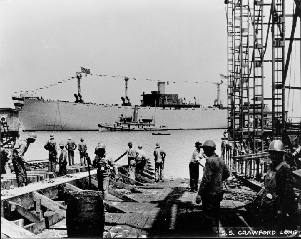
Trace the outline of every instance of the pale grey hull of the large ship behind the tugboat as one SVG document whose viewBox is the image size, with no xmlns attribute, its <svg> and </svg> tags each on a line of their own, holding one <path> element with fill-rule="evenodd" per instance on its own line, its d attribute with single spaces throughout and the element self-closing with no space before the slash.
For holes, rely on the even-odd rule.
<svg viewBox="0 0 301 239">
<path fill-rule="evenodd" d="M 16 105 L 16 104 L 15 104 Z M 20 106 L 20 105 L 19 105 Z M 20 109 L 20 107 L 17 107 Z M 139 107 L 138 119 L 153 117 L 156 127 L 168 129 L 225 129 L 227 110 L 215 107 Z M 23 131 L 98 131 L 112 125 L 121 114 L 132 115 L 134 106 L 97 105 L 23 99 L 19 119 Z"/>
</svg>

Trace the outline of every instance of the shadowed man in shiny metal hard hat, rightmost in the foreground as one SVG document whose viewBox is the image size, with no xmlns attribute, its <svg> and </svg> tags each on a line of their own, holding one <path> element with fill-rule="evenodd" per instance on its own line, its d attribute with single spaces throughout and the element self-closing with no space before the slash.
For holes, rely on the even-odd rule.
<svg viewBox="0 0 301 239">
<path fill-rule="evenodd" d="M 293 222 L 295 194 L 290 166 L 284 162 L 284 154 L 286 154 L 284 144 L 280 140 L 274 140 L 267 152 L 271 156 L 272 163 L 264 179 L 265 189 L 261 197 L 262 215 L 260 216 L 263 225 L 289 229 L 296 225 L 296 221 Z"/>
</svg>

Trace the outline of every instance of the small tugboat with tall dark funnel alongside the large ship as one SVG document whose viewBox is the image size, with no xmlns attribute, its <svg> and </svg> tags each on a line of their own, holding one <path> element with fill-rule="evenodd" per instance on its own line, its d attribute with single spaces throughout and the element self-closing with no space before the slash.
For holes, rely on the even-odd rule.
<svg viewBox="0 0 301 239">
<path fill-rule="evenodd" d="M 162 131 L 168 130 L 166 126 L 156 128 L 153 119 L 138 119 L 138 105 L 135 105 L 133 116 L 119 116 L 119 121 L 115 121 L 113 125 L 98 124 L 99 131 Z"/>
</svg>

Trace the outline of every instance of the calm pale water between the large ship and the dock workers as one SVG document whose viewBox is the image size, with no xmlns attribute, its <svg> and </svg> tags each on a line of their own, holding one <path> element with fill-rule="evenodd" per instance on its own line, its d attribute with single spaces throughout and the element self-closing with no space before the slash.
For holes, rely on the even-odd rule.
<svg viewBox="0 0 301 239">
<path fill-rule="evenodd" d="M 191 155 L 195 149 L 194 145 L 196 141 L 203 143 L 210 139 L 216 143 L 216 153 L 221 154 L 221 138 L 223 137 L 223 129 L 207 129 L 207 130 L 170 130 L 167 131 L 171 135 L 152 135 L 152 132 L 54 132 L 54 140 L 57 142 L 57 146 L 60 142 L 66 143 L 68 137 L 76 142 L 78 145 L 80 138 L 83 138 L 88 146 L 87 152 L 91 159 L 94 159 L 95 147 L 99 141 L 102 141 L 106 145 L 106 152 L 111 154 L 113 159 L 117 159 L 121 156 L 128 147 L 128 142 L 133 142 L 133 147 L 138 148 L 139 144 L 143 145 L 143 150 L 146 153 L 146 157 L 151 159 L 154 167 L 154 149 L 156 143 L 161 144 L 161 148 L 166 151 L 166 159 L 164 165 L 165 178 L 189 178 L 189 162 Z M 20 132 L 20 139 L 27 138 L 29 132 Z M 36 132 L 37 140 L 34 144 L 31 144 L 25 154 L 25 158 L 28 160 L 47 159 L 48 151 L 44 149 L 46 141 L 49 139 L 51 132 Z M 59 147 L 58 147 L 59 148 Z M 59 150 L 60 151 L 60 150 Z M 79 163 L 79 151 L 75 150 L 75 163 Z M 201 160 L 201 163 L 205 165 L 205 159 Z M 126 165 L 127 157 L 124 156 L 117 164 Z M 200 177 L 203 174 L 203 168 L 200 167 Z"/>
</svg>

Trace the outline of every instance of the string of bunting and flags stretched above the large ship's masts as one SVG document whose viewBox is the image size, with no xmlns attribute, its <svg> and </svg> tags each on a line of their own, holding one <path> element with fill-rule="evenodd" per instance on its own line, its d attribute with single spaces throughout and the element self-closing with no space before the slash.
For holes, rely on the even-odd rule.
<svg viewBox="0 0 301 239">
<path fill-rule="evenodd" d="M 112 76 L 112 75 L 107 75 L 107 74 L 91 74 L 90 73 L 90 69 L 86 69 L 86 68 L 82 68 L 81 67 L 81 73 L 85 74 L 85 76 L 87 77 L 87 75 L 96 75 L 98 77 L 113 77 L 113 78 L 116 78 L 116 77 L 119 77 L 119 78 L 128 78 L 129 80 L 151 80 L 151 81 L 160 81 L 160 80 L 153 80 L 153 79 L 142 79 L 142 78 L 130 78 L 130 77 L 127 77 L 127 76 L 121 76 L 121 75 L 117 75 L 117 76 Z M 81 77 L 81 73 L 80 74 L 80 77 Z M 225 75 L 222 75 L 222 74 L 219 74 L 220 77 L 221 77 L 221 80 L 225 80 L 227 79 L 227 76 Z M 68 80 L 72 80 L 72 79 L 75 79 L 77 78 L 77 76 L 74 76 L 74 77 L 69 77 L 69 79 L 66 79 L 66 80 L 61 80 L 61 81 L 58 81 L 57 83 L 52 83 L 48 86 L 44 86 L 44 87 L 39 87 L 39 88 L 34 88 L 34 89 L 31 89 L 31 90 L 24 90 L 24 91 L 19 91 L 19 92 L 14 92 L 15 94 L 17 93 L 23 93 L 23 92 L 26 92 L 26 93 L 29 93 L 29 92 L 35 92 L 35 90 L 39 91 L 39 90 L 43 90 L 43 89 L 48 89 L 49 86 L 57 86 L 58 84 L 62 84 L 63 82 L 68 82 Z M 183 80 L 183 81 L 174 81 L 174 80 L 170 80 L 170 81 L 167 81 L 167 85 L 169 85 L 169 82 L 172 82 L 172 83 L 212 83 L 211 81 L 189 81 L 189 80 Z M 223 82 L 222 82 L 223 83 Z"/>
</svg>

